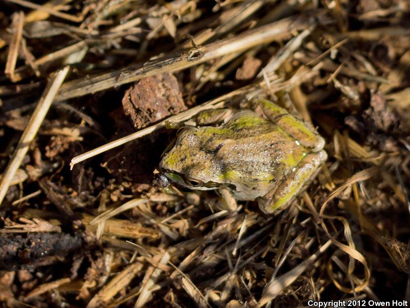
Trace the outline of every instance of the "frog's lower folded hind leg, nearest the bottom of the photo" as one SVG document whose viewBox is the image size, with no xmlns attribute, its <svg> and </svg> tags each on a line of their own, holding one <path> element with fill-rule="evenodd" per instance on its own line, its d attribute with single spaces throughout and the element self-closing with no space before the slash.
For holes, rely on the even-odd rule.
<svg viewBox="0 0 410 308">
<path fill-rule="evenodd" d="M 327 153 L 320 151 L 306 155 L 292 174 L 279 182 L 265 197 L 258 200 L 262 212 L 272 213 L 294 200 L 315 178 Z"/>
</svg>

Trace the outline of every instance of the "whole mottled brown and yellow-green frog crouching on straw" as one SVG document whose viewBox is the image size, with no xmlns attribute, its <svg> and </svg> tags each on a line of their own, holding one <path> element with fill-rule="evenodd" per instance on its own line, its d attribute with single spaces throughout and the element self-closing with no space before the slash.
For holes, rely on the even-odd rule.
<svg viewBox="0 0 410 308">
<path fill-rule="evenodd" d="M 225 114 L 216 123 L 179 129 L 159 162 L 163 184 L 216 190 L 235 202 L 256 200 L 263 213 L 289 206 L 326 161 L 324 138 L 264 98 Z"/>
</svg>

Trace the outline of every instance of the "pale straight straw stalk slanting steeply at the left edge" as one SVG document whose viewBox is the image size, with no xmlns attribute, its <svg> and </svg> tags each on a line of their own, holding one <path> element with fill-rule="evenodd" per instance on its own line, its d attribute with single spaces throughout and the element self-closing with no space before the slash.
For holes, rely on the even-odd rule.
<svg viewBox="0 0 410 308">
<path fill-rule="evenodd" d="M 30 118 L 29 124 L 27 125 L 27 128 L 25 129 L 22 137 L 20 138 L 20 141 L 18 142 L 16 150 L 13 153 L 13 157 L 11 158 L 6 171 L 3 173 L 3 177 L 0 182 L 0 206 L 3 202 L 4 197 L 6 196 L 7 190 L 9 189 L 11 179 L 13 178 L 17 169 L 20 167 L 24 156 L 26 156 L 30 142 L 36 136 L 40 125 L 42 125 L 47 111 L 49 110 L 58 89 L 60 88 L 61 84 L 63 84 L 68 71 L 68 66 L 57 71 L 47 84 L 47 87 L 44 90 L 44 94 L 40 98 L 38 105 Z"/>
</svg>

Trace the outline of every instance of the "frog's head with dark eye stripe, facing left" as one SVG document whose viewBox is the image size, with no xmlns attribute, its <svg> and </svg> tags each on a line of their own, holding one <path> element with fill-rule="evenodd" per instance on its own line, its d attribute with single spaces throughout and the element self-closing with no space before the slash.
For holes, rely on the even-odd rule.
<svg viewBox="0 0 410 308">
<path fill-rule="evenodd" d="M 201 148 L 198 129 L 180 129 L 176 140 L 162 154 L 159 163 L 160 177 L 169 182 L 194 190 L 214 190 L 220 187 L 212 172 L 210 153 Z M 166 180 L 162 178 L 162 183 Z"/>
</svg>

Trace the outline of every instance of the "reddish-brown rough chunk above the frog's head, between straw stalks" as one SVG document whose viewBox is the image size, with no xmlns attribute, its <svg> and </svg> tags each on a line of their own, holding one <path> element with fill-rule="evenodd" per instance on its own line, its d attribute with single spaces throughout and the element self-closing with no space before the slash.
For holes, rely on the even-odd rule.
<svg viewBox="0 0 410 308">
<path fill-rule="evenodd" d="M 122 107 L 137 129 L 187 109 L 178 80 L 168 73 L 140 79 L 125 92 Z"/>
</svg>

